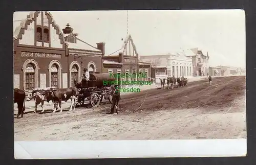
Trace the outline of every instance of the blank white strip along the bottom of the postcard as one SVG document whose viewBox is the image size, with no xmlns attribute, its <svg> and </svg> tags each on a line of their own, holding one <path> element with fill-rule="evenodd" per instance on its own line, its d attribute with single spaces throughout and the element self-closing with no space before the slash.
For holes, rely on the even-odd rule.
<svg viewBox="0 0 256 165">
<path fill-rule="evenodd" d="M 246 156 L 246 139 L 16 141 L 16 159 Z"/>
</svg>

